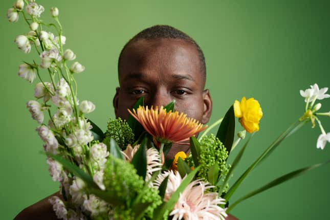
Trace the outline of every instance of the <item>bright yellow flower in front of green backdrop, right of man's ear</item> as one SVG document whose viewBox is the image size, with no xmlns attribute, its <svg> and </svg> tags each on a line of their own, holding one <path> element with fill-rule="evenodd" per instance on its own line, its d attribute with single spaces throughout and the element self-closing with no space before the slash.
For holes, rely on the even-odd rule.
<svg viewBox="0 0 330 220">
<path fill-rule="evenodd" d="M 239 102 L 235 100 L 234 113 L 239 118 L 240 124 L 249 132 L 259 130 L 259 121 L 262 117 L 262 110 L 260 104 L 254 98 L 248 100 L 243 97 Z"/>
</svg>

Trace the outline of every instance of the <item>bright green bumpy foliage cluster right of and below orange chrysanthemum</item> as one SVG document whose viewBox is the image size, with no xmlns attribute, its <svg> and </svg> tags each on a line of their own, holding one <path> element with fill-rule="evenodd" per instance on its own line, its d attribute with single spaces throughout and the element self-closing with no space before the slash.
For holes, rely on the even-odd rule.
<svg viewBox="0 0 330 220">
<path fill-rule="evenodd" d="M 189 165 L 192 163 L 191 157 L 186 160 Z M 228 173 L 228 168 L 226 160 L 228 158 L 228 152 L 226 147 L 221 143 L 221 141 L 216 138 L 213 134 L 209 136 L 204 136 L 201 140 L 201 152 L 199 156 L 200 171 L 198 173 L 198 178 L 205 181 L 209 179 L 209 170 L 215 164 L 218 166 L 219 173 L 222 177 L 225 177 Z M 213 188 L 212 190 L 217 190 L 219 186 Z"/>
</svg>

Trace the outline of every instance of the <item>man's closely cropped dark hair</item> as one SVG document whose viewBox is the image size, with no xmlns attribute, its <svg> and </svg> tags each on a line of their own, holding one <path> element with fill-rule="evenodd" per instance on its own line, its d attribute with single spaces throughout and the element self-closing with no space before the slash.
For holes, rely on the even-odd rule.
<svg viewBox="0 0 330 220">
<path fill-rule="evenodd" d="M 126 45 L 123 47 L 123 49 L 120 52 L 119 59 L 118 59 L 118 74 L 119 74 L 119 67 L 120 67 L 120 62 L 122 58 L 123 51 L 126 49 L 126 47 L 135 41 L 138 41 L 140 39 L 160 39 L 160 38 L 168 38 L 168 39 L 182 39 L 186 42 L 192 43 L 197 52 L 199 53 L 199 58 L 200 58 L 200 65 L 201 65 L 201 73 L 203 74 L 203 77 L 205 79 L 206 77 L 206 65 L 205 65 L 205 57 L 202 49 L 200 46 L 196 43 L 194 39 L 189 37 L 186 33 L 173 28 L 169 25 L 155 25 L 150 28 L 144 29 L 137 35 L 135 35 L 133 38 L 131 38 Z"/>
</svg>

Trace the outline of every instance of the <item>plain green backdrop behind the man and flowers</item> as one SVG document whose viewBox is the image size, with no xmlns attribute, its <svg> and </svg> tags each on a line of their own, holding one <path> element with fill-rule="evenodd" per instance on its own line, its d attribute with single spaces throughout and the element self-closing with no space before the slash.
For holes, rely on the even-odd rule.
<svg viewBox="0 0 330 220">
<path fill-rule="evenodd" d="M 57 6 L 65 48 L 77 54 L 86 70 L 76 75 L 79 99 L 97 108 L 90 118 L 104 130 L 114 118 L 112 98 L 117 79 L 117 58 L 125 42 L 144 28 L 167 24 L 193 37 L 205 53 L 207 87 L 213 97 L 211 122 L 243 96 L 254 97 L 264 116 L 235 180 L 284 129 L 303 114 L 300 89 L 310 84 L 330 86 L 330 4 L 328 1 L 38 1 L 46 9 Z M 0 209 L 2 219 L 58 190 L 48 173 L 42 142 L 26 102 L 34 85 L 17 76 L 23 60 L 35 55 L 17 50 L 14 38 L 29 29 L 23 17 L 10 24 L 6 18 L 12 1 L 0 3 L 1 139 Z M 46 74 L 43 72 L 42 74 Z M 46 76 L 46 75 L 45 75 Z M 322 100 L 323 112 L 330 100 Z M 323 117 L 326 131 L 330 118 Z M 238 124 L 237 129 L 241 129 Z M 214 130 L 215 132 L 215 130 Z M 320 129 L 305 125 L 285 140 L 258 166 L 232 202 L 272 179 L 297 168 L 330 158 L 330 144 L 316 148 Z M 234 152 L 237 153 L 239 147 Z M 232 160 L 232 159 L 231 159 Z M 232 210 L 240 219 L 330 219 L 329 165 L 252 197 Z M 233 182 L 231 182 L 233 183 Z"/>
</svg>

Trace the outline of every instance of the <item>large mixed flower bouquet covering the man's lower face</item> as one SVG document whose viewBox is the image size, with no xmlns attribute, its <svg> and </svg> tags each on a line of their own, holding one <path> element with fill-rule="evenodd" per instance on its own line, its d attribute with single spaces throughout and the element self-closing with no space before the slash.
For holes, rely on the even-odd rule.
<svg viewBox="0 0 330 220">
<path fill-rule="evenodd" d="M 321 129 L 317 148 L 323 149 L 330 142 L 330 133 L 325 132 L 319 119 L 330 116 L 330 112 L 319 113 L 321 104 L 315 103 L 330 97 L 327 88 L 319 89 L 314 84 L 301 90 L 306 102 L 304 114 L 229 186 L 253 133 L 259 130 L 263 113 L 257 100 L 245 97 L 236 100 L 224 118 L 207 127 L 174 111 L 175 100 L 166 106 L 153 107 L 144 106 L 140 98 L 133 109 L 128 109 L 127 121 L 109 119 L 103 132 L 86 118 L 95 105 L 77 97 L 74 76 L 85 68 L 77 61 L 69 65 L 76 55 L 64 49 L 66 38 L 62 35 L 59 11 L 51 8 L 55 23 L 46 24 L 40 19 L 44 10 L 34 0 L 17 0 L 7 17 L 14 23 L 23 16 L 31 31 L 17 36 L 14 42 L 24 53 L 30 53 L 33 47 L 40 58 L 20 64 L 18 76 L 30 83 L 39 80 L 35 84 L 36 100 L 29 101 L 27 107 L 39 123 L 36 131 L 45 142 L 43 149 L 50 175 L 60 185 L 62 198 L 50 199 L 58 218 L 225 219 L 241 201 L 322 165 L 285 174 L 229 203 L 249 173 L 307 122 Z M 55 34 L 45 28 L 52 28 Z M 40 71 L 48 72 L 47 81 Z M 47 123 L 45 114 L 49 118 Z M 244 128 L 236 140 L 235 117 Z M 209 134 L 215 126 L 219 126 L 217 133 Z M 230 153 L 247 133 L 251 135 L 233 163 L 228 164 Z M 178 152 L 174 159 L 165 160 L 172 143 L 187 141 L 191 150 L 188 155 Z"/>
</svg>

